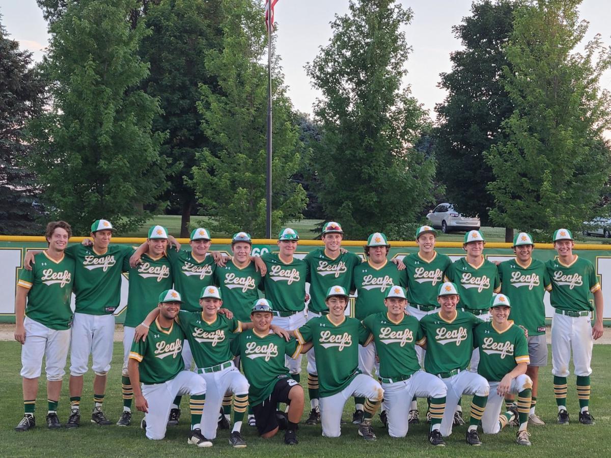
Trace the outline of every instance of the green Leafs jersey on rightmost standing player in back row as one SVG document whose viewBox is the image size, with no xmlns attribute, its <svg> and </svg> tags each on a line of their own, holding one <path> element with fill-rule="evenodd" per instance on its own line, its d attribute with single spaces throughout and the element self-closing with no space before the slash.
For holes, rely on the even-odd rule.
<svg viewBox="0 0 611 458">
<path fill-rule="evenodd" d="M 555 259 L 547 261 L 546 267 L 552 282 L 552 307 L 572 311 L 594 310 L 590 303 L 590 293 L 601 289 L 594 264 L 576 256 L 569 266 Z"/>
</svg>

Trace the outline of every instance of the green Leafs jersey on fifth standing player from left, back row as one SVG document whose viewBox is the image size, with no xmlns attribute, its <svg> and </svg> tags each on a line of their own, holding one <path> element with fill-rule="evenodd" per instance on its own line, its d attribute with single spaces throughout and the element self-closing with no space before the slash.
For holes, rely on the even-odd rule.
<svg viewBox="0 0 611 458">
<path fill-rule="evenodd" d="M 255 264 L 238 267 L 229 261 L 225 267 L 214 271 L 214 282 L 219 285 L 223 307 L 227 307 L 240 321 L 251 321 L 251 308 L 259 298 L 258 289 L 262 288 L 260 272 Z"/>
</svg>

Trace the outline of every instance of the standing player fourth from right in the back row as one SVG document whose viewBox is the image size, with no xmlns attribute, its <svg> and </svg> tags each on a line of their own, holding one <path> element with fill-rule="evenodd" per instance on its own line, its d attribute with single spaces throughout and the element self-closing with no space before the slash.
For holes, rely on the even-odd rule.
<svg viewBox="0 0 611 458">
<path fill-rule="evenodd" d="M 408 313 L 420 321 L 423 316 L 437 313 L 437 291 L 444 282 L 444 275 L 452 265 L 452 260 L 446 255 L 437 253 L 435 241 L 437 231 L 430 226 L 420 226 L 416 229 L 416 243 L 418 252 L 411 253 L 403 258 L 408 278 Z M 416 346 L 416 354 L 420 366 L 424 365 L 425 351 Z M 427 418 L 430 412 L 427 412 Z M 463 418 L 457 414 L 459 423 Z M 420 423 L 416 399 L 412 399 L 409 407 L 409 423 Z M 463 422 L 464 423 L 464 422 Z"/>
</svg>

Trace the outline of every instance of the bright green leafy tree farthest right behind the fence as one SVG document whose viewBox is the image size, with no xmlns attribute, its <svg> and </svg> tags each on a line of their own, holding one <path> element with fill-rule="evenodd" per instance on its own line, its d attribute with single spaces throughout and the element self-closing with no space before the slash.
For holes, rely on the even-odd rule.
<svg viewBox="0 0 611 458">
<path fill-rule="evenodd" d="M 611 157 L 602 132 L 611 111 L 599 81 L 611 52 L 599 35 L 584 54 L 575 51 L 587 31 L 579 3 L 540 0 L 516 12 L 503 76 L 515 109 L 503 123 L 506 140 L 486 154 L 496 224 L 546 235 L 579 230 L 606 190 Z"/>
</svg>

